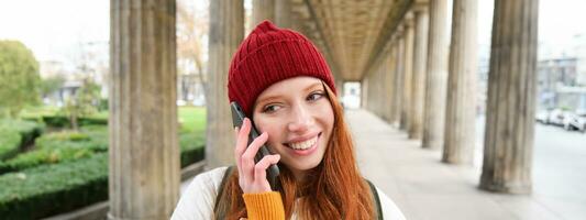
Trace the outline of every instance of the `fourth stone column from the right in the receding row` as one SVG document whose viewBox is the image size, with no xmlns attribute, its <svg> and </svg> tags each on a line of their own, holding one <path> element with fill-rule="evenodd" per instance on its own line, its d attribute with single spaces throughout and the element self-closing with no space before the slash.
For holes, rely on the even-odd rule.
<svg viewBox="0 0 586 220">
<path fill-rule="evenodd" d="M 428 61 L 428 3 L 414 7 L 414 52 L 413 78 L 411 99 L 411 123 L 409 123 L 409 139 L 421 139 L 423 132 L 423 106 L 425 100 L 425 75 Z"/>
</svg>

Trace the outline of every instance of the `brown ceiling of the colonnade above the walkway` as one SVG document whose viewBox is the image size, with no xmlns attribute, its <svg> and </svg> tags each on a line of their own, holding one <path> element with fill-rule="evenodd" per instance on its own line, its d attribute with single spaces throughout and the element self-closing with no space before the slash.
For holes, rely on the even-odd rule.
<svg viewBox="0 0 586 220">
<path fill-rule="evenodd" d="M 363 78 L 413 0 L 291 0 L 292 11 L 343 80 Z M 324 48 L 325 47 L 325 48 Z M 333 64 L 332 64 L 333 63 Z"/>
</svg>

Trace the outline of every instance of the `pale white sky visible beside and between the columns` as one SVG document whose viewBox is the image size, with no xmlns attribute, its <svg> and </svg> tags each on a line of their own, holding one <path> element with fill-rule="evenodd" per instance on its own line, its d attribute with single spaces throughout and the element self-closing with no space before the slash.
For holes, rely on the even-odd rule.
<svg viewBox="0 0 586 220">
<path fill-rule="evenodd" d="M 493 0 L 478 1 L 478 43 L 487 48 Z M 23 42 L 38 61 L 71 61 L 79 44 L 108 43 L 109 3 L 109 0 L 0 0 L 0 40 Z M 540 0 L 540 54 L 560 54 L 570 50 L 576 34 L 586 35 L 585 11 L 586 0 Z"/>
</svg>

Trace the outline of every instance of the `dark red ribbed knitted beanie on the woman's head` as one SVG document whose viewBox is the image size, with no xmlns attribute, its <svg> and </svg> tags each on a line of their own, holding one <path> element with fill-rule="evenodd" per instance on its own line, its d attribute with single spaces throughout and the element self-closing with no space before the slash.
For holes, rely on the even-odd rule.
<svg viewBox="0 0 586 220">
<path fill-rule="evenodd" d="M 263 21 L 244 38 L 232 58 L 228 98 L 251 117 L 253 105 L 263 90 L 296 76 L 320 78 L 336 92 L 330 67 L 307 37 Z"/>
</svg>

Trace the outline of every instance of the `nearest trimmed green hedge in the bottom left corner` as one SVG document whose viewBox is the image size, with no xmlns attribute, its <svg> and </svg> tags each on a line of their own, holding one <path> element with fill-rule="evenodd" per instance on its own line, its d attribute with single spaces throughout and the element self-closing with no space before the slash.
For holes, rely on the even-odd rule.
<svg viewBox="0 0 586 220">
<path fill-rule="evenodd" d="M 0 176 L 0 216 L 38 219 L 108 199 L 108 154 Z"/>
</svg>

